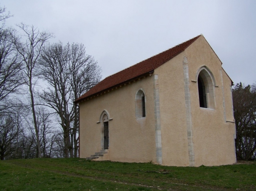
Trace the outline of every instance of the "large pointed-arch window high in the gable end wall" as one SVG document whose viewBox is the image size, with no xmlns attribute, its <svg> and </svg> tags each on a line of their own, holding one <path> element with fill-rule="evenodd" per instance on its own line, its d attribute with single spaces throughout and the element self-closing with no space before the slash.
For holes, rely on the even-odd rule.
<svg viewBox="0 0 256 191">
<path fill-rule="evenodd" d="M 200 68 L 198 72 L 197 85 L 200 108 L 215 109 L 214 76 L 206 66 Z"/>
</svg>

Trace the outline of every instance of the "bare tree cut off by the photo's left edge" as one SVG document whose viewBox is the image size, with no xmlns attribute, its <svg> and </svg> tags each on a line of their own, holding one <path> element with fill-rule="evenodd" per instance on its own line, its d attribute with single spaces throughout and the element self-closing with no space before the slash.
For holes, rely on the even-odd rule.
<svg viewBox="0 0 256 191">
<path fill-rule="evenodd" d="M 16 105 L 10 97 L 20 93 L 23 85 L 22 63 L 15 44 L 15 30 L 5 27 L 5 7 L 0 7 L 0 155 L 1 160 L 15 156 L 15 142 L 21 132 L 20 123 L 16 123 Z M 20 117 L 18 117 L 20 118 Z"/>
</svg>

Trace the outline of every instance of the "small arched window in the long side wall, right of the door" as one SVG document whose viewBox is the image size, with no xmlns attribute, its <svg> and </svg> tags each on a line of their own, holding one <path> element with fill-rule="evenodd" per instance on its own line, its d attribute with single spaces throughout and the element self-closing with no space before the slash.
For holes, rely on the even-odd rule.
<svg viewBox="0 0 256 191">
<path fill-rule="evenodd" d="M 142 89 L 135 95 L 135 116 L 136 119 L 146 117 L 146 97 Z"/>
</svg>

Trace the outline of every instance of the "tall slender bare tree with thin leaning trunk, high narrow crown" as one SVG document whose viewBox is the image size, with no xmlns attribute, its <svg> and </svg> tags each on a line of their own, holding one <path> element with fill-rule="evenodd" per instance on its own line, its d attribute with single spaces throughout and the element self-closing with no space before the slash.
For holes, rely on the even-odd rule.
<svg viewBox="0 0 256 191">
<path fill-rule="evenodd" d="M 37 119 L 35 113 L 35 103 L 34 103 L 34 87 L 37 81 L 37 76 L 34 75 L 34 69 L 36 67 L 38 58 L 40 56 L 43 44 L 45 44 L 49 38 L 52 38 L 52 33 L 48 31 L 40 32 L 39 29 L 36 27 L 28 26 L 23 23 L 18 25 L 20 30 L 24 33 L 22 36 L 26 39 L 25 42 L 21 42 L 21 37 L 16 38 L 13 37 L 13 42 L 15 44 L 15 48 L 18 51 L 19 55 L 22 58 L 22 61 L 25 65 L 25 69 L 23 72 L 25 73 L 25 82 L 29 88 L 29 94 L 31 98 L 31 109 L 33 113 L 33 122 L 34 122 L 34 129 L 36 132 L 36 142 L 38 145 L 37 148 L 37 157 L 41 157 L 41 150 L 40 150 L 40 139 L 37 127 Z"/>
</svg>

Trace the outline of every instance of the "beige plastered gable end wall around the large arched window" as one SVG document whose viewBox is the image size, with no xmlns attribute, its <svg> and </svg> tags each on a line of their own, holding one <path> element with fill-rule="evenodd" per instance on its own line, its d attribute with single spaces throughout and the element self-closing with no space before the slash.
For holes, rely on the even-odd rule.
<svg viewBox="0 0 256 191">
<path fill-rule="evenodd" d="M 187 58 L 189 73 L 193 166 L 233 164 L 236 157 L 231 80 L 223 71 L 221 61 L 201 36 L 184 52 L 154 72 L 159 75 L 163 165 L 189 166 L 183 80 L 184 57 Z M 200 108 L 199 105 L 196 74 L 204 65 L 215 78 L 215 109 Z"/>
</svg>

